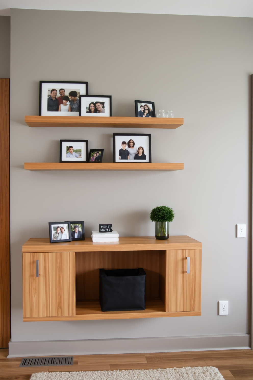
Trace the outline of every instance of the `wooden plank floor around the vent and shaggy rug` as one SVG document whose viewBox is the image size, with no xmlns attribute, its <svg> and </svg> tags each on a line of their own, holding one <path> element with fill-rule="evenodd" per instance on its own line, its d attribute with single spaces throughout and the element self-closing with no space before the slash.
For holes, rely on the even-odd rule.
<svg viewBox="0 0 253 380">
<path fill-rule="evenodd" d="M 148 354 L 75 355 L 73 366 L 19 368 L 21 358 L 7 359 L 0 349 L 0 379 L 28 380 L 33 372 L 156 369 L 214 366 L 225 380 L 253 380 L 253 350 L 189 351 Z"/>
</svg>

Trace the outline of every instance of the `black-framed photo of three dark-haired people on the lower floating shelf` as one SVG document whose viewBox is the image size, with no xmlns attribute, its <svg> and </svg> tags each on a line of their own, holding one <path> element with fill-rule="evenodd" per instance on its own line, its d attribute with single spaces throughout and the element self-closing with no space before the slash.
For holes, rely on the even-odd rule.
<svg viewBox="0 0 253 380">
<path fill-rule="evenodd" d="M 151 134 L 113 133 L 113 162 L 151 162 Z"/>
</svg>

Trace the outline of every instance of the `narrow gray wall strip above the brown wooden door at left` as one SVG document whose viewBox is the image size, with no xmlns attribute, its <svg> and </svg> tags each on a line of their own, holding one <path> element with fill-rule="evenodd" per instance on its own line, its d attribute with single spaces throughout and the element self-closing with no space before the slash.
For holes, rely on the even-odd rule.
<svg viewBox="0 0 253 380">
<path fill-rule="evenodd" d="M 0 78 L 10 76 L 11 17 L 0 16 Z"/>
</svg>

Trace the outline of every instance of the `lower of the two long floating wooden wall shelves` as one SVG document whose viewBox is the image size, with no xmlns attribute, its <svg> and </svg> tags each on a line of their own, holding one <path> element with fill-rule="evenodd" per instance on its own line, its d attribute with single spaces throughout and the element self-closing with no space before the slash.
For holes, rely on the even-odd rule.
<svg viewBox="0 0 253 380">
<path fill-rule="evenodd" d="M 156 163 L 156 162 L 25 162 L 26 170 L 165 170 L 174 171 L 184 169 L 183 163 Z"/>
</svg>

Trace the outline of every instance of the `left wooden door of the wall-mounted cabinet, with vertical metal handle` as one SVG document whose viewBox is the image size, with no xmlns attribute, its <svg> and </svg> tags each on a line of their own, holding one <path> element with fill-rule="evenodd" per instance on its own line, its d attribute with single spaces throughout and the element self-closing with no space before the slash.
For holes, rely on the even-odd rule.
<svg viewBox="0 0 253 380">
<path fill-rule="evenodd" d="M 75 315 L 75 252 L 23 253 L 23 315 Z"/>
</svg>

